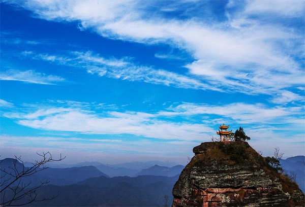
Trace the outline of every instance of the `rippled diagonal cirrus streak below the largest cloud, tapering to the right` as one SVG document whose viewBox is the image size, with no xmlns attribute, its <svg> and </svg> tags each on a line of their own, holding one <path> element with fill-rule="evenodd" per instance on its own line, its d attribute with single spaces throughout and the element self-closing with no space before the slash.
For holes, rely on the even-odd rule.
<svg viewBox="0 0 305 207">
<path fill-rule="evenodd" d="M 217 87 L 209 86 L 187 75 L 156 69 L 153 66 L 136 64 L 130 57 L 121 59 L 114 57 L 105 58 L 92 51 L 70 51 L 64 55 L 37 54 L 34 51 L 23 51 L 21 54 L 59 65 L 84 68 L 90 74 L 97 74 L 98 76 L 106 76 L 108 78 L 161 84 L 177 88 L 220 90 Z"/>
</svg>

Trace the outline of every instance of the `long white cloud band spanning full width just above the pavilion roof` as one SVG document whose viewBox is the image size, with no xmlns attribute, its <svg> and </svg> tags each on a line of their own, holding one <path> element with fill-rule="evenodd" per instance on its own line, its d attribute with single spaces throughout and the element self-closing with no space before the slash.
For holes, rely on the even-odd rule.
<svg viewBox="0 0 305 207">
<path fill-rule="evenodd" d="M 164 140 L 198 141 L 215 133 L 219 123 L 243 125 L 260 123 L 271 130 L 273 124 L 285 124 L 290 130 L 302 125 L 303 107 L 273 107 L 262 104 L 231 103 L 225 106 L 207 106 L 182 103 L 156 113 L 119 111 L 103 108 L 103 105 L 59 101 L 55 106 L 27 106 L 23 112 L 7 112 L 5 117 L 31 128 L 80 132 L 84 134 L 133 134 Z M 170 119 L 182 116 L 182 119 Z M 204 117 L 201 123 L 193 123 L 194 116 Z M 299 118 L 297 118 L 299 117 Z M 181 120 L 181 121 L 178 121 Z M 208 120 L 208 121 L 205 121 Z M 289 130 L 289 129 L 285 129 Z"/>
</svg>

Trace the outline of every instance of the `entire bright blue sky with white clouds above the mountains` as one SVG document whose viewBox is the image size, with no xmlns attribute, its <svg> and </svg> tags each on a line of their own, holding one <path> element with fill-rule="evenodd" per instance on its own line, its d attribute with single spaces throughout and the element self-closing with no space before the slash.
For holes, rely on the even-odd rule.
<svg viewBox="0 0 305 207">
<path fill-rule="evenodd" d="M 1 155 L 168 160 L 222 123 L 305 155 L 304 1 L 2 1 Z"/>
</svg>

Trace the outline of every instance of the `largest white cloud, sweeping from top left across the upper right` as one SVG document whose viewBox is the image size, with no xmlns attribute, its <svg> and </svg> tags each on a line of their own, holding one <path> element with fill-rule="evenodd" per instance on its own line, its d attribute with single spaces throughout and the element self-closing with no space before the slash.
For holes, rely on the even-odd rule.
<svg viewBox="0 0 305 207">
<path fill-rule="evenodd" d="M 176 10 L 179 5 L 185 8 L 184 4 L 183 1 L 176 2 L 169 8 L 162 7 L 162 11 Z M 198 3 L 190 4 L 189 8 L 196 7 Z M 25 1 L 22 5 L 43 19 L 80 21 L 82 29 L 92 29 L 111 39 L 144 44 L 170 44 L 172 47 L 186 50 L 196 59 L 186 67 L 190 73 L 197 76 L 197 80 L 181 80 L 185 77 L 164 70 L 155 71 L 149 66 L 129 65 L 128 70 L 121 73 L 117 70 L 109 72 L 101 67 L 89 70 L 100 75 L 108 73 L 112 78 L 136 78 L 159 84 L 155 77 L 135 77 L 137 73 L 151 71 L 151 74 L 157 72 L 156 78 L 160 79 L 161 76 L 166 85 L 170 85 L 172 80 L 178 80 L 174 85 L 183 81 L 190 84 L 182 87 L 211 90 L 226 88 L 245 93 L 274 94 L 285 87 L 303 85 L 303 81 L 298 77 L 304 77 L 305 74 L 291 55 L 295 54 L 295 51 L 302 51 L 303 34 L 286 25 L 260 22 L 259 17 L 250 18 L 251 14 L 262 16 L 268 15 L 269 12 L 282 15 L 283 18 L 301 18 L 303 1 L 249 1 L 243 9 L 239 8 L 234 12 L 228 10 L 229 21 L 222 23 L 205 23 L 191 18 L 190 15 L 184 20 L 166 19 L 159 16 L 159 13 L 150 15 L 151 4 L 131 0 L 71 1 L 69 4 L 63 1 Z M 231 2 L 228 8 L 232 5 L 234 2 Z M 109 65 L 101 57 L 99 61 Z M 171 77 L 170 80 L 166 80 L 165 76 Z M 281 81 L 278 81 L 278 78 Z M 199 87 L 194 86 L 198 85 L 198 82 Z"/>
</svg>

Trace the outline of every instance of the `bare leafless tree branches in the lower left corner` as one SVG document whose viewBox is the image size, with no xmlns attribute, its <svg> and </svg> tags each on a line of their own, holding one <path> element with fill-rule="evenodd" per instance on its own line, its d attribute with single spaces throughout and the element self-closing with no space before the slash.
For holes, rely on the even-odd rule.
<svg viewBox="0 0 305 207">
<path fill-rule="evenodd" d="M 52 197 L 43 197 L 38 198 L 37 190 L 49 183 L 49 181 L 40 182 L 38 186 L 31 186 L 31 181 L 23 182 L 23 178 L 32 176 L 39 171 L 42 171 L 46 168 L 47 163 L 60 161 L 65 159 L 66 157 L 60 157 L 58 159 L 53 159 L 50 152 L 39 154 L 40 159 L 36 160 L 32 163 L 31 167 L 25 167 L 23 161 L 21 160 L 21 156 L 15 156 L 15 160 L 13 162 L 13 166 L 8 166 L 7 168 L 0 168 L 0 206 L 20 206 L 26 205 L 28 203 L 37 202 L 37 201 L 45 201 L 54 199 L 56 196 Z M 3 160 L 0 162 L 2 164 Z"/>
</svg>

